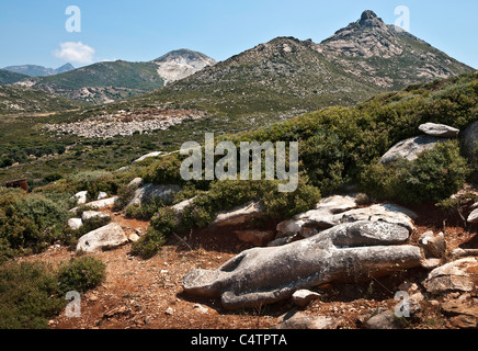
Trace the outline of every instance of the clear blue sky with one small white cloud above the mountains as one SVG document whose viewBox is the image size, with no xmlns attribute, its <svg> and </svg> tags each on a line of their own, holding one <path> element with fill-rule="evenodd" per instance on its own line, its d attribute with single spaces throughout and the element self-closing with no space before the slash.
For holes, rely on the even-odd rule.
<svg viewBox="0 0 478 351">
<path fill-rule="evenodd" d="M 66 29 L 69 5 L 81 10 L 79 33 Z M 364 10 L 394 24 L 398 5 L 413 35 L 478 68 L 476 0 L 3 0 L 0 67 L 147 61 L 177 48 L 224 60 L 276 36 L 319 43 Z"/>
</svg>

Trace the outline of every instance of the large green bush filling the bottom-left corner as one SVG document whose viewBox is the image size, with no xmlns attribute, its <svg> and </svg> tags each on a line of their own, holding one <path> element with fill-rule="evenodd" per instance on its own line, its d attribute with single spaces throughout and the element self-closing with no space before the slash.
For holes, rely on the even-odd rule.
<svg viewBox="0 0 478 351">
<path fill-rule="evenodd" d="M 49 265 L 12 262 L 0 267 L 0 329 L 48 328 L 48 320 L 66 304 Z"/>
</svg>

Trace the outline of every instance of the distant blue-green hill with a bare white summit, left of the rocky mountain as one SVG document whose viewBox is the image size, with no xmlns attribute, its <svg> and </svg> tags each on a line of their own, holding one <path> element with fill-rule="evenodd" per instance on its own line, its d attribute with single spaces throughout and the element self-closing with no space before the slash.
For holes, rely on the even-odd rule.
<svg viewBox="0 0 478 351">
<path fill-rule="evenodd" d="M 11 82 L 90 104 L 101 104 L 162 88 L 215 64 L 204 54 L 179 49 L 146 63 L 102 61 L 53 76 L 21 77 L 16 82 Z"/>
</svg>

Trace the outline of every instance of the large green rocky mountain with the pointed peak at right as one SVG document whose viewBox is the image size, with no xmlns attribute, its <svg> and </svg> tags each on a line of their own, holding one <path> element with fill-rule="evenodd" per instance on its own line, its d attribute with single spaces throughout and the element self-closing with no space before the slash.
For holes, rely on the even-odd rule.
<svg viewBox="0 0 478 351">
<path fill-rule="evenodd" d="M 320 44 L 277 37 L 118 103 L 118 109 L 169 104 L 223 120 L 240 117 L 238 127 L 247 128 L 470 71 L 471 67 L 365 11 Z"/>
</svg>

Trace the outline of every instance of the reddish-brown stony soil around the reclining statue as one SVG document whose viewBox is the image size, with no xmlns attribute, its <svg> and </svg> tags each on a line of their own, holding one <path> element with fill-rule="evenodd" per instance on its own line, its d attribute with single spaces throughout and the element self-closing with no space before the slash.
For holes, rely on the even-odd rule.
<svg viewBox="0 0 478 351">
<path fill-rule="evenodd" d="M 445 234 L 448 251 L 458 247 L 478 248 L 477 226 L 465 227 L 459 216 L 447 216 L 433 205 L 421 205 L 411 210 L 419 214 L 412 241 L 417 242 L 423 233 L 433 230 Z M 120 214 L 112 215 L 113 220 L 120 223 L 127 235 L 136 229 L 146 233 L 147 222 L 126 219 Z M 69 318 L 62 313 L 50 321 L 50 326 L 57 329 L 270 328 L 281 321 L 282 315 L 296 308 L 291 301 L 262 309 L 230 312 L 225 310 L 218 299 L 195 298 L 182 291 L 182 278 L 191 270 L 217 269 L 249 247 L 227 228 L 207 228 L 182 238 L 171 238 L 149 260 L 130 256 L 129 244 L 115 250 L 95 253 L 94 257 L 107 264 L 106 281 L 82 296 L 80 318 Z M 55 265 L 73 256 L 75 252 L 67 248 L 52 247 L 46 252 L 22 260 L 48 261 Z M 322 298 L 311 303 L 303 312 L 315 316 L 342 318 L 341 328 L 360 328 L 358 320 L 364 316 L 376 313 L 379 307 L 394 308 L 397 304 L 394 296 L 399 291 L 400 283 L 408 280 L 420 285 L 426 274 L 428 271 L 417 269 L 382 279 L 372 278 L 369 282 L 322 286 L 318 288 L 323 294 Z M 440 313 L 436 302 L 423 302 L 422 310 L 422 318 L 412 328 L 453 328 Z"/>
</svg>

